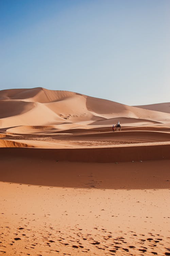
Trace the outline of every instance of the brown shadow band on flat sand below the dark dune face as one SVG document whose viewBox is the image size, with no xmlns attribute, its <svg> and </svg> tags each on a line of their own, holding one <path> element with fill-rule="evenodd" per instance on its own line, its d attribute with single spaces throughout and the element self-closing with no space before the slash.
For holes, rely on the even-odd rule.
<svg viewBox="0 0 170 256">
<path fill-rule="evenodd" d="M 168 189 L 169 165 L 170 160 L 87 163 L 6 156 L 0 158 L 0 181 L 53 187 Z"/>
</svg>

